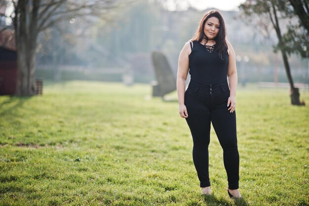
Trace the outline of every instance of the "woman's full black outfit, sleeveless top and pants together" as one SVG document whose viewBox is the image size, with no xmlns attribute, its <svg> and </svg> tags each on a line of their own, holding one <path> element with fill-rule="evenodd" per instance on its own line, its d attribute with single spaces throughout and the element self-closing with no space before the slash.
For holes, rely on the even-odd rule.
<svg viewBox="0 0 309 206">
<path fill-rule="evenodd" d="M 200 187 L 210 186 L 208 145 L 212 123 L 223 149 L 224 166 L 230 189 L 238 189 L 239 155 L 236 136 L 236 114 L 227 107 L 230 89 L 227 82 L 229 54 L 221 59 L 216 44 L 206 47 L 190 42 L 189 73 L 191 81 L 185 92 L 188 111 L 186 121 L 193 137 L 193 162 Z"/>
</svg>

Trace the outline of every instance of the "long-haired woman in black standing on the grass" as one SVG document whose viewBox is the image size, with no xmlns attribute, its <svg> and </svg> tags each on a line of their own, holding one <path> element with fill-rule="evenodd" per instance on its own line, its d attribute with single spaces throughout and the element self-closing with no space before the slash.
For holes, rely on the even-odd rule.
<svg viewBox="0 0 309 206">
<path fill-rule="evenodd" d="M 191 80 L 185 91 L 188 72 Z M 193 39 L 180 52 L 177 74 L 179 114 L 186 118 L 191 130 L 193 163 L 204 195 L 211 193 L 208 145 L 212 123 L 223 148 L 228 194 L 231 198 L 241 197 L 238 191 L 236 86 L 235 52 L 226 40 L 224 20 L 218 11 L 209 11 L 201 19 Z"/>
</svg>

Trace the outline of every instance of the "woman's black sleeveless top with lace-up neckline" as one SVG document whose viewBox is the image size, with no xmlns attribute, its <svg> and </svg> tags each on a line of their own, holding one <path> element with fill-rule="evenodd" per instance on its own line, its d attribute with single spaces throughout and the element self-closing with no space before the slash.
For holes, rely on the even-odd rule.
<svg viewBox="0 0 309 206">
<path fill-rule="evenodd" d="M 192 41 L 193 47 L 189 55 L 189 74 L 191 81 L 200 84 L 227 82 L 229 54 L 226 51 L 222 59 L 217 53 L 217 44 L 207 49 L 198 41 Z"/>
</svg>

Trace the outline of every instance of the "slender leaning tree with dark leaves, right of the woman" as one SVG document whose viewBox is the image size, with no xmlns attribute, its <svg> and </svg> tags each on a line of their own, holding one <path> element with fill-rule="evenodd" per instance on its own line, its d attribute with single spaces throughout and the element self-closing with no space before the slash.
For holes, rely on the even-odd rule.
<svg viewBox="0 0 309 206">
<path fill-rule="evenodd" d="M 294 2 L 291 4 L 290 1 L 286 0 L 247 0 L 239 7 L 244 12 L 245 17 L 259 17 L 257 25 L 261 29 L 268 30 L 269 25 L 274 28 L 278 38 L 274 51 L 280 50 L 282 54 L 291 87 L 291 103 L 293 105 L 304 105 L 305 103 L 301 103 L 299 99 L 299 89 L 294 86 L 287 54 L 300 53 L 303 57 L 309 57 L 309 49 L 307 48 L 309 33 L 305 30 L 308 27 L 308 20 L 299 19 L 303 16 L 307 16 L 308 19 L 308 3 L 306 0 L 291 1 Z M 302 8 L 300 9 L 300 7 Z M 293 23 L 295 19 L 299 19 L 299 24 Z M 287 26 L 284 27 L 280 24 L 280 20 L 287 20 Z M 302 22 L 304 22 L 304 25 Z M 281 32 L 282 28 L 286 30 L 285 33 Z"/>
</svg>

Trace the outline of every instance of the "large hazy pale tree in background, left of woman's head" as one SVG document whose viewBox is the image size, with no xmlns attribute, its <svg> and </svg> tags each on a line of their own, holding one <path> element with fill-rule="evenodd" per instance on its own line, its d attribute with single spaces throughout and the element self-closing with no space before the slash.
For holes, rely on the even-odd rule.
<svg viewBox="0 0 309 206">
<path fill-rule="evenodd" d="M 112 68 L 128 64 L 134 76 L 140 76 L 135 80 L 150 82 L 154 78 L 150 54 L 157 50 L 167 55 L 176 72 L 179 51 L 191 38 L 202 12 L 169 11 L 158 0 L 140 0 L 123 10 L 115 24 L 98 25 L 95 47 L 103 52 L 97 52 L 100 58 L 92 62 L 102 69 L 102 65 Z M 93 52 L 86 55 L 95 56 Z"/>
</svg>

